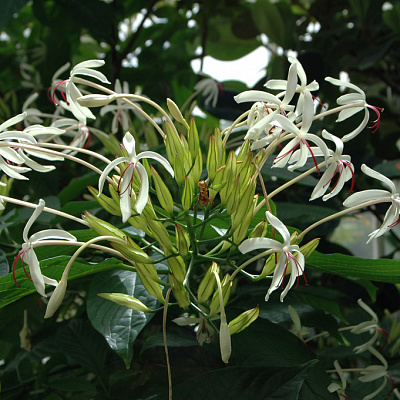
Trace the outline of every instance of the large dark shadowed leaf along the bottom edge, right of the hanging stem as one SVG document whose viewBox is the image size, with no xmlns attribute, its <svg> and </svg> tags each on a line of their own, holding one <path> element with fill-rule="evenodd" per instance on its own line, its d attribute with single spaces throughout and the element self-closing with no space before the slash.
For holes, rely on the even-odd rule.
<svg viewBox="0 0 400 400">
<path fill-rule="evenodd" d="M 307 374 L 317 362 L 277 369 L 228 367 L 209 371 L 175 384 L 174 399 L 206 399 L 212 393 L 214 399 L 297 400 Z"/>
</svg>

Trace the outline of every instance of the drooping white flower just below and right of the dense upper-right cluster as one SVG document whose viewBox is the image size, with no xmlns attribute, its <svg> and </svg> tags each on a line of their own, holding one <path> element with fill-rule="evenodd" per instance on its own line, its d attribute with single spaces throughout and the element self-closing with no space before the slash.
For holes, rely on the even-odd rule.
<svg viewBox="0 0 400 400">
<path fill-rule="evenodd" d="M 322 175 L 321 179 L 315 186 L 311 194 L 310 200 L 315 200 L 318 197 L 321 197 L 328 190 L 329 184 L 334 180 L 336 175 L 339 175 L 336 179 L 336 182 L 333 184 L 332 190 L 325 194 L 322 199 L 324 201 L 330 199 L 333 196 L 336 196 L 343 188 L 344 184 L 348 180 L 352 180 L 351 188 L 349 192 L 352 192 L 354 186 L 354 165 L 351 163 L 351 157 L 342 155 L 343 152 L 343 142 L 337 137 L 330 134 L 325 129 L 322 131 L 322 137 L 328 140 L 331 140 L 335 143 L 336 149 L 334 152 L 329 151 L 330 156 L 328 161 L 326 162 L 327 169 Z M 312 148 L 314 151 L 314 155 L 320 155 L 319 149 Z M 293 155 L 294 156 L 294 155 Z"/>
</svg>

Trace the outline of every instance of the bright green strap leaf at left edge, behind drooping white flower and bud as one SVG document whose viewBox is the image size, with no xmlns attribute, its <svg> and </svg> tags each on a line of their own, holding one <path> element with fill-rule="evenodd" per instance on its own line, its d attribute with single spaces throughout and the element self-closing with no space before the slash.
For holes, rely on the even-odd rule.
<svg viewBox="0 0 400 400">
<path fill-rule="evenodd" d="M 42 273 L 49 278 L 59 280 L 67 265 L 70 257 L 60 256 L 43 260 L 40 262 Z M 109 258 L 98 264 L 88 263 L 83 260 L 76 260 L 71 267 L 69 279 L 77 279 L 86 275 L 95 274 L 114 268 L 123 268 L 122 261 L 115 258 Z M 125 266 L 126 268 L 126 266 Z M 0 308 L 10 304 L 28 294 L 36 292 L 33 283 L 25 276 L 22 268 L 15 273 L 16 281 L 20 287 L 17 287 L 12 273 L 9 273 L 0 278 Z"/>
</svg>

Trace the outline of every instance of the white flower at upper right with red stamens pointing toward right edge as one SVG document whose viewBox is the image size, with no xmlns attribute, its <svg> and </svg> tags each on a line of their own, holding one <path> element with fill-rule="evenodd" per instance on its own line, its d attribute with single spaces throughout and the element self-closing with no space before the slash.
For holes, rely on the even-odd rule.
<svg viewBox="0 0 400 400">
<path fill-rule="evenodd" d="M 344 94 L 337 99 L 337 103 L 339 105 L 354 105 L 354 106 L 340 111 L 336 122 L 344 121 L 345 119 L 350 118 L 354 114 L 357 114 L 358 112 L 364 110 L 364 118 L 363 118 L 361 124 L 356 129 L 354 129 L 352 132 L 348 133 L 347 135 L 344 135 L 342 137 L 342 141 L 348 142 L 349 140 L 355 138 L 366 127 L 368 120 L 369 120 L 369 116 L 370 116 L 368 109 L 373 110 L 375 112 L 375 114 L 377 115 L 377 119 L 374 121 L 374 124 L 369 127 L 370 129 L 372 129 L 372 132 L 376 132 L 376 130 L 379 128 L 379 124 L 381 122 L 380 112 L 383 111 L 383 108 L 369 105 L 366 102 L 366 96 L 365 96 L 364 91 L 362 91 L 358 86 L 356 86 L 350 82 L 345 82 L 345 81 L 341 81 L 339 79 L 330 78 L 330 77 L 325 78 L 325 80 L 332 83 L 332 85 L 344 86 L 346 88 L 353 89 L 357 92 L 357 93 Z"/>
</svg>

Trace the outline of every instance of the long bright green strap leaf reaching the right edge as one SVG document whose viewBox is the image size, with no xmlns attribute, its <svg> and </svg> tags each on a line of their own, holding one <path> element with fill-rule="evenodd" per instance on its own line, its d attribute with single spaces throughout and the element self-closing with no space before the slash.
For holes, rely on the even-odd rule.
<svg viewBox="0 0 400 400">
<path fill-rule="evenodd" d="M 314 251 L 307 265 L 336 275 L 371 281 L 399 283 L 400 260 L 370 260 L 343 254 L 322 254 Z"/>
</svg>

